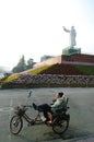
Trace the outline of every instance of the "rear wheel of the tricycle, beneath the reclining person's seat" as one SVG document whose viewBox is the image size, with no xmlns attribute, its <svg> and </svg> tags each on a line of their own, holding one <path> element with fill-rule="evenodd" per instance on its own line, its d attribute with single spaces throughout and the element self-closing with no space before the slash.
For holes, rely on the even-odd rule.
<svg viewBox="0 0 94 142">
<path fill-rule="evenodd" d="M 69 120 L 58 120 L 55 118 L 52 122 L 52 130 L 58 134 L 63 134 L 69 127 Z"/>
</svg>

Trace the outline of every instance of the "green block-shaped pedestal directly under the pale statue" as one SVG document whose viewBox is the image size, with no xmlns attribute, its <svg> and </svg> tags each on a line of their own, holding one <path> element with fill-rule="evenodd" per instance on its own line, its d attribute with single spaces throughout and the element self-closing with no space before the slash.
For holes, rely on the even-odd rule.
<svg viewBox="0 0 94 142">
<path fill-rule="evenodd" d="M 81 48 L 67 47 L 67 48 L 62 49 L 62 55 L 66 55 L 66 56 L 77 55 L 77 54 L 81 54 Z"/>
</svg>

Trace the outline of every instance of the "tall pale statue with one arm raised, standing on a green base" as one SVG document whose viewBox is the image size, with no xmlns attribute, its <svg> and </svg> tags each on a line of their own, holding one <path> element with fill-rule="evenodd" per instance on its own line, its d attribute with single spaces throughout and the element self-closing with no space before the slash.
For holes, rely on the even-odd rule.
<svg viewBox="0 0 94 142">
<path fill-rule="evenodd" d="M 75 42 L 75 36 L 77 36 L 77 32 L 74 29 L 74 26 L 71 26 L 71 29 L 67 29 L 64 26 L 63 27 L 63 31 L 67 32 L 67 33 L 70 33 L 70 47 L 73 47 L 77 45 L 77 42 Z"/>
</svg>

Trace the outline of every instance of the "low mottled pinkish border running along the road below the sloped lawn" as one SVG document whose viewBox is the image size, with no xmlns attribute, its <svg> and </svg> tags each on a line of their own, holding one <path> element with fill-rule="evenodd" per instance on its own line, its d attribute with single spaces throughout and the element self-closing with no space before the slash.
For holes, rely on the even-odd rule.
<svg viewBox="0 0 94 142">
<path fill-rule="evenodd" d="M 94 76 L 59 74 L 23 74 L 2 87 L 43 87 L 43 86 L 94 86 Z"/>
</svg>

